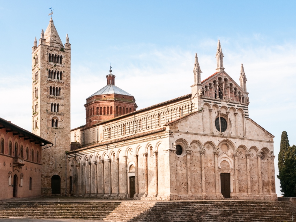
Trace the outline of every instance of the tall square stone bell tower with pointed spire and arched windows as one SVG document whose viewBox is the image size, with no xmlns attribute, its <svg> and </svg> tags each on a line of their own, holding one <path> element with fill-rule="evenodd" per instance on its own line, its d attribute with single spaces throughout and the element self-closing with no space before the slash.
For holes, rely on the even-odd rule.
<svg viewBox="0 0 296 222">
<path fill-rule="evenodd" d="M 70 74 L 68 35 L 63 45 L 51 18 L 45 33 L 42 29 L 38 46 L 35 38 L 32 48 L 32 132 L 53 143 L 42 150 L 43 196 L 65 194 L 65 151 L 70 150 Z"/>
</svg>

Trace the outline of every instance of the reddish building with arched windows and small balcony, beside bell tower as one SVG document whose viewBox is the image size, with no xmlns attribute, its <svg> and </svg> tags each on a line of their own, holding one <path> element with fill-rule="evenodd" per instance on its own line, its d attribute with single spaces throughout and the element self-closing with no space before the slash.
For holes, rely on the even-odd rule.
<svg viewBox="0 0 296 222">
<path fill-rule="evenodd" d="M 0 118 L 0 200 L 41 196 L 42 149 L 51 145 Z"/>
</svg>

